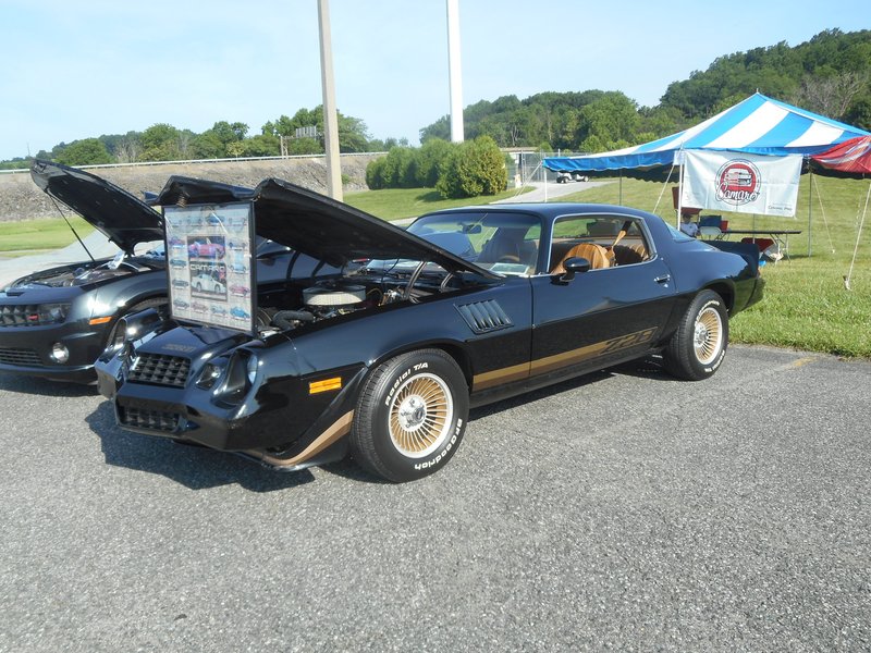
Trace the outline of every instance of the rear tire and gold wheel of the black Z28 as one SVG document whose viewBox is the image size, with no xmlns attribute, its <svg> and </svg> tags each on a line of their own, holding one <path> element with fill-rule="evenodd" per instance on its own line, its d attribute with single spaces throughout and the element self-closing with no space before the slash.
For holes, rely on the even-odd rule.
<svg viewBox="0 0 871 653">
<path fill-rule="evenodd" d="M 665 368 L 678 379 L 701 381 L 716 371 L 727 346 L 728 311 L 720 295 L 702 291 L 665 348 Z"/>
</svg>

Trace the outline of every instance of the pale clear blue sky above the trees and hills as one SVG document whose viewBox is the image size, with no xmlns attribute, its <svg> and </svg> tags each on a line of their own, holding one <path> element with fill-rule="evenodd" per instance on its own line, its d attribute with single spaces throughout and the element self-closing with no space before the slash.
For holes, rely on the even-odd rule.
<svg viewBox="0 0 871 653">
<path fill-rule="evenodd" d="M 444 0 L 331 0 L 339 110 L 377 138 L 446 114 Z M 463 104 L 622 90 L 654 106 L 720 56 L 871 27 L 868 0 L 459 0 Z M 143 131 L 249 135 L 321 103 L 316 0 L 0 0 L 0 159 Z M 760 89 L 764 93 L 764 89 Z"/>
</svg>

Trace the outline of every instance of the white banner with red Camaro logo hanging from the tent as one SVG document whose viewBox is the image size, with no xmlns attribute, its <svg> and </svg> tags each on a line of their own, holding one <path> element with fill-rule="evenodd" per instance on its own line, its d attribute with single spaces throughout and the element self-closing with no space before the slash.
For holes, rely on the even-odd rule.
<svg viewBox="0 0 871 653">
<path fill-rule="evenodd" d="M 683 206 L 788 218 L 796 214 L 801 155 L 704 150 L 685 150 L 683 155 Z"/>
</svg>

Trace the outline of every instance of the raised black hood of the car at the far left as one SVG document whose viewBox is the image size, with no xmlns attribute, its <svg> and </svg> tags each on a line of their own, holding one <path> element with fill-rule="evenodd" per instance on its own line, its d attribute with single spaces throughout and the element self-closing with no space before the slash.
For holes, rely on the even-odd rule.
<svg viewBox="0 0 871 653">
<path fill-rule="evenodd" d="M 163 239 L 160 213 L 106 180 L 39 159 L 30 167 L 30 176 L 127 254 L 133 254 L 138 243 Z"/>
</svg>

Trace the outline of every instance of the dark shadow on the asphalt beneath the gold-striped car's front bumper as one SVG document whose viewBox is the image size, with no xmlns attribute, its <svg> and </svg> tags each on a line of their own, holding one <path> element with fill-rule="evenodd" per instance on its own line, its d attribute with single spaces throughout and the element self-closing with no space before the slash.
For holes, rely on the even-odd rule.
<svg viewBox="0 0 871 653">
<path fill-rule="evenodd" d="M 128 433 L 115 424 L 110 402 L 103 402 L 85 421 L 101 441 L 108 465 L 171 479 L 191 490 L 238 484 L 253 492 L 274 492 L 315 480 L 310 471 L 281 472 L 232 454 L 165 438 Z"/>
</svg>

